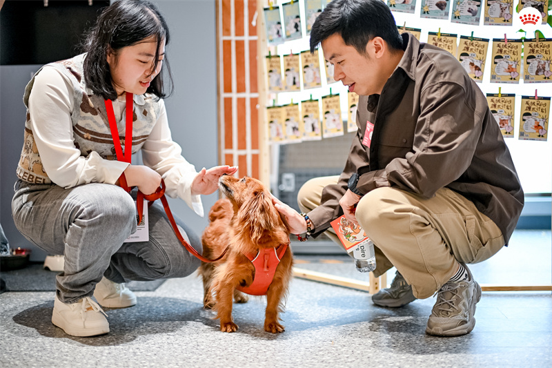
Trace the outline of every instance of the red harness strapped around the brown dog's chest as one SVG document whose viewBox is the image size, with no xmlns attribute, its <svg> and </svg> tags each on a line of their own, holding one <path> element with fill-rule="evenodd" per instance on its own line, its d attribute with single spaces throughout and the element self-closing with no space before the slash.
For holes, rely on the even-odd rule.
<svg viewBox="0 0 552 368">
<path fill-rule="evenodd" d="M 245 256 L 255 266 L 255 277 L 248 287 L 237 287 L 236 289 L 251 296 L 266 296 L 266 291 L 274 279 L 276 267 L 287 249 L 288 244 L 280 244 L 277 248 L 259 249 L 257 255 L 246 254 Z"/>
</svg>

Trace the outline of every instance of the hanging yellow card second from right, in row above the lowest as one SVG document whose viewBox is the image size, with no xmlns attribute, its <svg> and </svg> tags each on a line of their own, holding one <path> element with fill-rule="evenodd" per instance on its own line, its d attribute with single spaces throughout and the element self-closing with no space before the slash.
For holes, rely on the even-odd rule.
<svg viewBox="0 0 552 368">
<path fill-rule="evenodd" d="M 520 83 L 522 46 L 521 39 L 493 39 L 491 83 Z"/>
</svg>

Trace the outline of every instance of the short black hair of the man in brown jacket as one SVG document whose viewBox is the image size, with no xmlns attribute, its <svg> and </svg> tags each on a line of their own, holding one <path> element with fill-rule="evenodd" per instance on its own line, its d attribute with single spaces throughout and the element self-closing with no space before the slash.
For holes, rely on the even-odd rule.
<svg viewBox="0 0 552 368">
<path fill-rule="evenodd" d="M 366 55 L 366 44 L 382 37 L 391 50 L 402 50 L 402 37 L 388 6 L 382 0 L 333 0 L 311 28 L 311 52 L 334 34 Z"/>
</svg>

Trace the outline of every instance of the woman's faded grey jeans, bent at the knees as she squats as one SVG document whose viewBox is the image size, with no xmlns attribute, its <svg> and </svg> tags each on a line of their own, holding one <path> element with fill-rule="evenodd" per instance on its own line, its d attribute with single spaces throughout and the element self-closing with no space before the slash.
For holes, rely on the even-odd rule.
<svg viewBox="0 0 552 368">
<path fill-rule="evenodd" d="M 64 255 L 63 273 L 56 278 L 62 302 L 92 296 L 102 276 L 117 283 L 181 278 L 200 264 L 177 239 L 159 201 L 148 211 L 149 241 L 124 243 L 136 231 L 137 217 L 134 200 L 119 186 L 91 183 L 65 189 L 18 181 L 12 216 L 30 242 Z M 175 221 L 201 253 L 199 236 L 176 216 Z"/>
</svg>

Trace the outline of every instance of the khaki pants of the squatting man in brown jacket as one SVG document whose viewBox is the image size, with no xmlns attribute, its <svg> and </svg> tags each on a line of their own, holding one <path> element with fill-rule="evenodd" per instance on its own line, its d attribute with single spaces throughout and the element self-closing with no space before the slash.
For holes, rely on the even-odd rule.
<svg viewBox="0 0 552 368">
<path fill-rule="evenodd" d="M 338 176 L 316 177 L 297 195 L 308 212 L 320 204 L 322 188 Z M 428 298 L 454 275 L 456 262 L 482 262 L 504 246 L 498 226 L 462 195 L 441 188 L 434 197 L 377 188 L 357 205 L 359 224 L 375 244 L 376 277 L 395 266 L 416 298 Z M 325 232 L 337 244 L 333 229 Z"/>
</svg>

